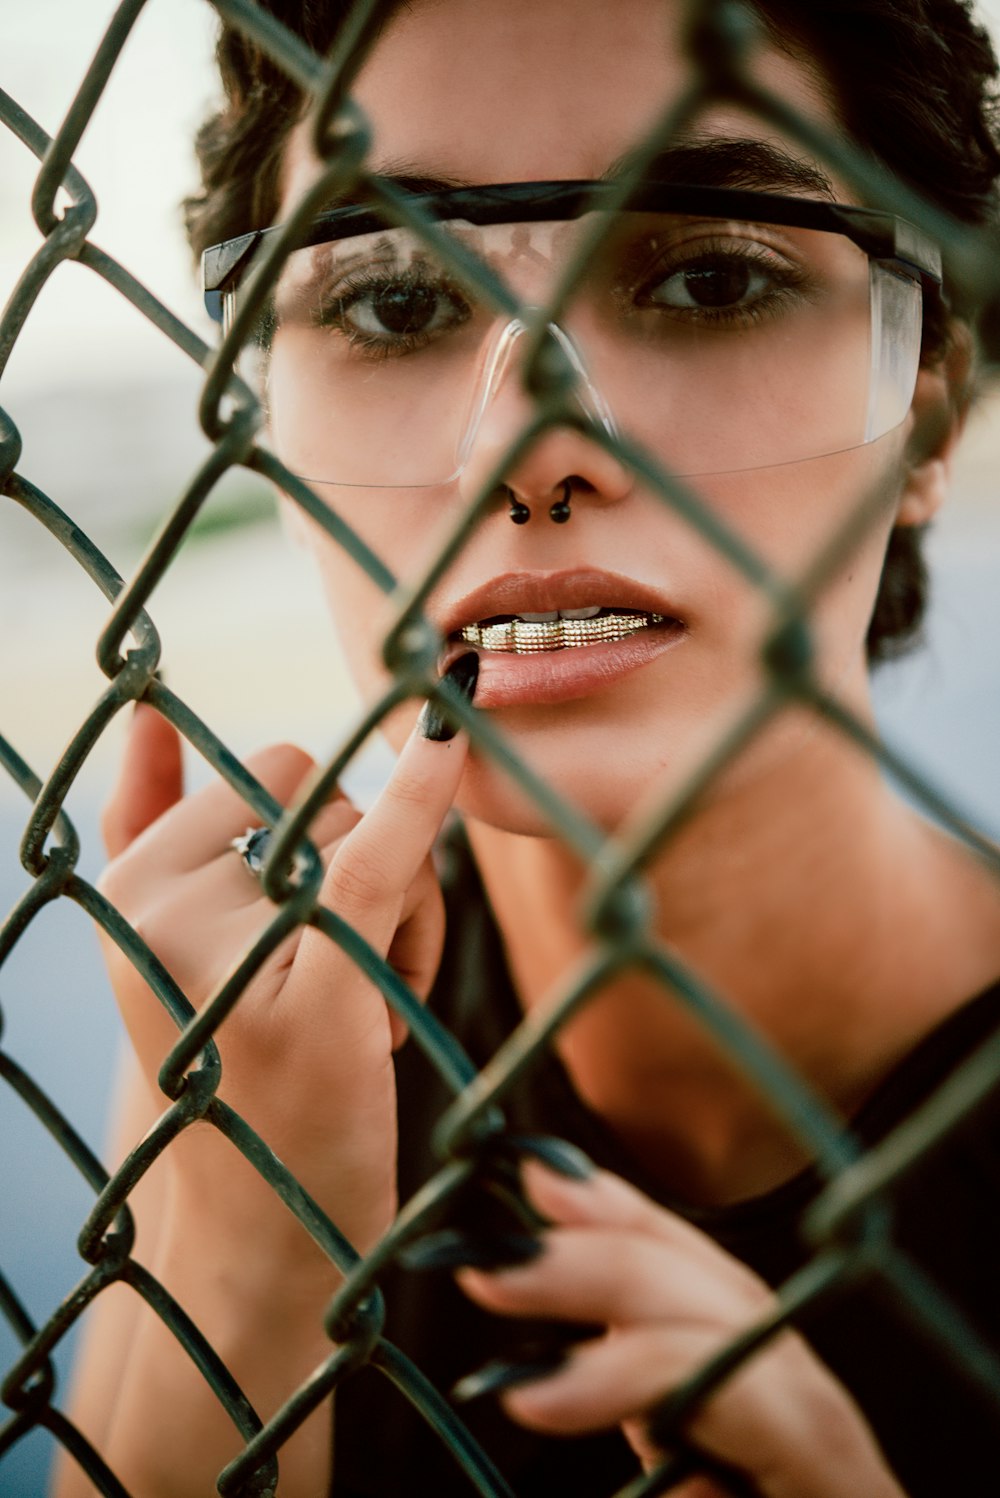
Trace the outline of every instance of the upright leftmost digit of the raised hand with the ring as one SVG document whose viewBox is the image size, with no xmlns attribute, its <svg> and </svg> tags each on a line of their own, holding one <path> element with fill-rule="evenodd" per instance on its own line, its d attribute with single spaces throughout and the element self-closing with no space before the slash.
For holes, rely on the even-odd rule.
<svg viewBox="0 0 1000 1498">
<path fill-rule="evenodd" d="M 102 833 L 111 858 L 159 821 L 184 794 L 181 736 L 148 703 L 136 703 Z"/>
</svg>

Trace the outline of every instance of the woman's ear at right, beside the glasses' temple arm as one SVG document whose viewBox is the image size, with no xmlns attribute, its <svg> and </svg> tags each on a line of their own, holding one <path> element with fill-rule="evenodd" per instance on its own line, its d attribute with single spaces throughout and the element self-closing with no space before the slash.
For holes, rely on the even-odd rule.
<svg viewBox="0 0 1000 1498">
<path fill-rule="evenodd" d="M 969 415 L 970 374 L 972 334 L 966 324 L 954 322 L 945 354 L 936 364 L 922 364 L 916 376 L 897 526 L 925 526 L 945 502 Z"/>
</svg>

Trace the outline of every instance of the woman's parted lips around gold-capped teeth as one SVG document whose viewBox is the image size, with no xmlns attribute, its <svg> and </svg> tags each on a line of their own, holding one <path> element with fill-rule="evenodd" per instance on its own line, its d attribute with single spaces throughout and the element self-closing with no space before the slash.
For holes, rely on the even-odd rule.
<svg viewBox="0 0 1000 1498">
<path fill-rule="evenodd" d="M 445 664 L 479 653 L 479 707 L 588 697 L 687 635 L 665 595 L 597 568 L 493 578 L 452 604 L 442 628 Z"/>
</svg>

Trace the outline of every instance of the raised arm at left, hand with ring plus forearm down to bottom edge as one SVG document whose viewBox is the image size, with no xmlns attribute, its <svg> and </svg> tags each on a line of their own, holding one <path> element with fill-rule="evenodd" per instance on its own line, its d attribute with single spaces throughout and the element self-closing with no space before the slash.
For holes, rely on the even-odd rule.
<svg viewBox="0 0 1000 1498">
<path fill-rule="evenodd" d="M 469 664 L 466 688 L 472 695 Z M 347 920 L 421 996 L 443 941 L 430 852 L 464 761 L 464 739 L 433 740 L 418 728 L 368 813 L 337 797 L 310 828 L 325 866 L 320 903 Z M 249 768 L 289 804 L 311 761 L 280 746 L 254 755 Z M 254 813 L 222 782 L 189 798 L 181 791 L 178 737 L 141 706 L 105 816 L 112 863 L 102 890 L 201 1008 L 277 906 L 231 848 L 257 821 Z M 132 963 L 102 939 L 142 1070 L 118 1128 L 124 1150 L 169 1106 L 156 1079 L 178 1031 Z M 395 1212 L 392 1049 L 403 1035 L 382 993 L 314 927 L 299 927 L 278 945 L 216 1032 L 219 1095 L 362 1252 Z M 266 1420 L 334 1353 L 323 1309 L 337 1270 L 210 1125 L 186 1128 L 129 1200 L 136 1257 L 195 1320 Z M 216 1474 L 243 1446 L 180 1344 L 138 1296 L 118 1287 L 87 1312 L 73 1414 L 139 1498 L 213 1492 Z M 325 1492 L 329 1464 L 326 1404 L 281 1447 L 281 1494 Z M 91 1488 L 64 1464 L 58 1492 L 78 1498 Z"/>
</svg>

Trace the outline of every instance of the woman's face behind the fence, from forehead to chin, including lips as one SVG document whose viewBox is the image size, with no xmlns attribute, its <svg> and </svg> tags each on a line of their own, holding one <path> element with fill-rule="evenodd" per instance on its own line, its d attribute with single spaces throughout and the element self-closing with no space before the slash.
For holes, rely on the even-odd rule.
<svg viewBox="0 0 1000 1498">
<path fill-rule="evenodd" d="M 674 34 L 680 10 L 660 0 L 415 0 L 392 22 L 356 84 L 356 99 L 374 129 L 370 165 L 377 172 L 455 184 L 602 177 L 684 88 L 689 73 Z M 802 61 L 762 48 L 756 73 L 778 97 L 837 127 L 832 103 Z M 829 187 L 822 190 L 828 174 L 819 163 L 729 106 L 704 112 L 684 145 L 693 160 L 702 153 L 711 162 L 719 160 L 723 139 L 753 142 L 744 150 L 747 177 L 731 186 L 831 195 Z M 316 172 L 305 141 L 301 129 L 289 144 L 286 205 Z M 835 183 L 832 193 L 849 198 Z M 504 259 L 504 271 L 527 301 L 542 300 L 551 286 L 557 241 L 558 234 L 545 240 L 539 231 L 525 238 L 528 253 Z M 802 358 L 811 357 L 829 373 L 829 360 L 817 354 L 820 337 L 822 327 L 807 340 Z M 317 487 L 397 577 L 413 580 L 430 565 L 463 505 L 524 424 L 530 403 L 515 366 L 516 358 L 497 382 L 457 482 L 397 490 Z M 617 391 L 618 424 L 638 431 L 663 463 L 677 463 L 704 401 L 690 404 L 684 380 L 668 400 L 638 358 L 632 364 L 620 358 L 617 370 L 609 360 L 606 369 Z M 856 401 L 847 366 L 834 385 L 838 395 L 825 401 L 811 398 L 807 364 L 795 377 L 787 363 L 762 361 L 759 382 L 744 370 L 734 392 L 726 391 L 713 415 L 720 445 L 740 430 L 741 388 L 757 400 L 760 388 L 777 392 L 766 407 L 768 421 L 802 433 L 807 448 L 810 424 L 816 424 L 813 451 L 823 446 L 831 400 Z M 606 392 L 597 374 L 594 383 L 599 409 Z M 623 389 L 629 409 L 623 409 Z M 283 413 L 280 385 L 275 394 L 278 451 L 283 430 L 290 431 L 287 442 L 307 443 L 311 461 L 322 463 L 322 419 L 310 413 L 308 430 L 296 431 L 296 419 L 299 428 L 305 425 L 304 407 L 298 416 L 296 409 Z M 900 505 L 910 503 L 904 449 L 912 419 L 837 455 L 690 481 L 710 512 L 786 577 L 807 566 L 862 496 L 876 496 L 873 527 L 814 613 L 820 670 L 859 707 L 865 703 L 864 638 L 885 542 Z M 430 452 L 436 436 L 427 431 L 410 443 L 413 461 L 422 457 L 422 445 Z M 566 479 L 572 479 L 572 520 L 554 524 L 549 506 Z M 512 524 L 507 502 L 497 497 L 436 587 L 428 613 L 449 638 L 452 655 L 463 644 L 463 626 L 510 614 L 600 607 L 666 620 L 611 644 L 534 655 L 481 647 L 478 704 L 534 770 L 611 828 L 651 782 L 663 779 L 666 789 L 689 771 L 760 686 L 756 655 L 768 605 L 687 521 L 576 431 L 548 431 L 507 472 L 507 484 L 528 506 L 530 521 Z M 371 700 L 388 680 L 380 658 L 385 601 L 319 529 L 310 530 L 310 544 L 352 673 Z M 392 721 L 389 736 L 400 742 L 412 716 Z M 807 753 L 808 745 L 801 722 L 786 715 L 754 742 L 731 777 L 746 783 L 784 767 L 790 755 Z M 475 755 L 461 804 L 499 825 L 542 830 L 503 774 Z"/>
</svg>

